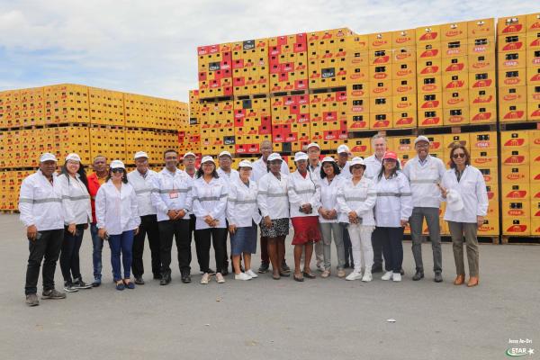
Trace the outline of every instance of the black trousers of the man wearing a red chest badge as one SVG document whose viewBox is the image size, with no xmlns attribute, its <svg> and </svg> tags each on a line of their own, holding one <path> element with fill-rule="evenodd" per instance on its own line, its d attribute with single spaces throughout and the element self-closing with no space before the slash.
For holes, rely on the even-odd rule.
<svg viewBox="0 0 540 360">
<path fill-rule="evenodd" d="M 159 241 L 161 257 L 161 274 L 171 274 L 171 250 L 173 248 L 173 237 L 176 241 L 176 250 L 178 252 L 178 267 L 180 273 L 190 272 L 191 267 L 191 247 L 189 236 L 189 220 L 165 220 L 159 221 Z"/>
</svg>

